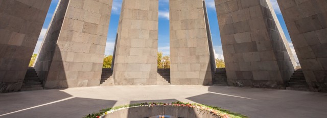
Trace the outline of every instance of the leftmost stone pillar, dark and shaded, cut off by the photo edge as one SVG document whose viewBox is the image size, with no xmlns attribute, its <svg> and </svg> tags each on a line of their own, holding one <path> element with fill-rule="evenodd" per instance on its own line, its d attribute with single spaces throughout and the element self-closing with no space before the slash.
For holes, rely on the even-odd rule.
<svg viewBox="0 0 327 118">
<path fill-rule="evenodd" d="M 0 1 L 0 93 L 20 89 L 50 3 Z"/>
</svg>

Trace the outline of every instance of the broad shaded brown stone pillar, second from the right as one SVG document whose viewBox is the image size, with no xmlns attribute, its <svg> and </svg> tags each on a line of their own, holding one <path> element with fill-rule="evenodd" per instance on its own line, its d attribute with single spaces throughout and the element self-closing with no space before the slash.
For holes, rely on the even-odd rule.
<svg viewBox="0 0 327 118">
<path fill-rule="evenodd" d="M 269 0 L 215 0 L 229 85 L 285 89 L 295 59 Z"/>
</svg>

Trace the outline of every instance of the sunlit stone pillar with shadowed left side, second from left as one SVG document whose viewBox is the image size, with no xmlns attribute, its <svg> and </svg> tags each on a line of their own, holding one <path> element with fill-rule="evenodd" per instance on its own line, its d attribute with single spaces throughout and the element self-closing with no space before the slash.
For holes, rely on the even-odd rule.
<svg viewBox="0 0 327 118">
<path fill-rule="evenodd" d="M 44 88 L 99 86 L 112 0 L 62 0 L 35 70 Z"/>
</svg>

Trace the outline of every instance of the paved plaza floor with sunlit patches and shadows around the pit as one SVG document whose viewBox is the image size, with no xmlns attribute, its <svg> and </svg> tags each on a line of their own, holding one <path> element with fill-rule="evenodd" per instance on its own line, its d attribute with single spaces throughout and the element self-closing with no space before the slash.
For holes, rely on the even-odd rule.
<svg viewBox="0 0 327 118">
<path fill-rule="evenodd" d="M 0 94 L 0 117 L 83 117 L 140 102 L 190 102 L 249 117 L 326 117 L 327 93 L 226 86 L 99 86 Z"/>
</svg>

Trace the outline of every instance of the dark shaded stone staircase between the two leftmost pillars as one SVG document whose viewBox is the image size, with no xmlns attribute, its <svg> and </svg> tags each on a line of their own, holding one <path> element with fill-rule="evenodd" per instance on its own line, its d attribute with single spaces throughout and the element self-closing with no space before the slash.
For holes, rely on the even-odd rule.
<svg viewBox="0 0 327 118">
<path fill-rule="evenodd" d="M 34 67 L 29 67 L 27 69 L 24 82 L 20 88 L 20 91 L 29 91 L 29 90 L 42 90 L 42 80 L 37 76 Z"/>
</svg>

